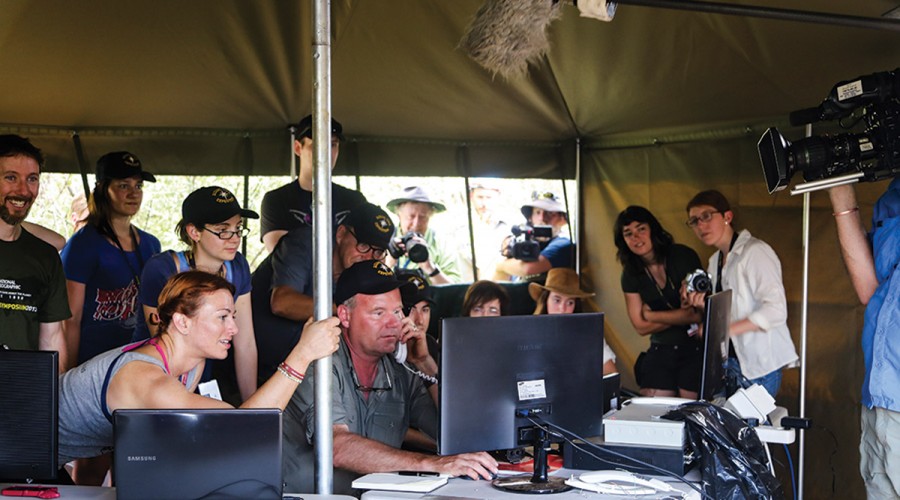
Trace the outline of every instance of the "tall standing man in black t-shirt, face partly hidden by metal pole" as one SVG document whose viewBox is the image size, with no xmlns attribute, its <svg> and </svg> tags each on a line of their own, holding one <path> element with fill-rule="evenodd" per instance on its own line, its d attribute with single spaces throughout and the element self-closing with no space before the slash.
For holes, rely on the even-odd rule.
<svg viewBox="0 0 900 500">
<path fill-rule="evenodd" d="M 331 120 L 331 168 L 337 163 L 344 128 L 340 122 Z M 297 181 L 290 181 L 278 189 L 266 193 L 262 201 L 260 236 L 266 250 L 272 252 L 275 244 L 285 233 L 300 226 L 312 226 L 312 179 L 313 179 L 313 123 L 312 115 L 307 115 L 291 127 L 294 135 L 294 154 L 299 163 Z M 331 211 L 334 225 L 341 223 L 347 213 L 364 203 L 366 197 L 359 191 L 347 189 L 331 183 Z"/>
</svg>

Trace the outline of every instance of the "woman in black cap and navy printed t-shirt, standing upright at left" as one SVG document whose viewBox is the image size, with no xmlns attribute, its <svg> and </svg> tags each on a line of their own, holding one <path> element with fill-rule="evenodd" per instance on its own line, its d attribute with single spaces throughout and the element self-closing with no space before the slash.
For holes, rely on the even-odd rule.
<svg viewBox="0 0 900 500">
<path fill-rule="evenodd" d="M 60 254 L 72 311 L 65 322 L 68 368 L 131 341 L 140 316 L 141 271 L 160 247 L 156 237 L 131 223 L 141 209 L 144 182 L 156 181 L 153 174 L 125 151 L 103 155 L 96 174 L 87 223 Z M 109 465 L 78 461 L 74 480 L 100 485 Z"/>
</svg>

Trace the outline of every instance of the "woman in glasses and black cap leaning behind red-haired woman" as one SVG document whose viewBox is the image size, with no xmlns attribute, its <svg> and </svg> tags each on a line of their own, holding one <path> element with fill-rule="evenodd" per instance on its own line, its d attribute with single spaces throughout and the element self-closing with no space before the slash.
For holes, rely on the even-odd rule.
<svg viewBox="0 0 900 500">
<path fill-rule="evenodd" d="M 244 218 L 258 219 L 252 210 L 241 208 L 231 191 L 209 186 L 195 190 L 181 204 L 181 221 L 176 232 L 189 247 L 169 250 L 147 262 L 141 280 L 142 327 L 135 341 L 157 333 L 159 293 L 173 274 L 196 269 L 221 276 L 235 287 L 236 321 L 241 335 L 234 339 L 234 354 L 212 364 L 203 381 L 215 378 L 223 399 L 240 404 L 256 390 L 256 340 L 250 308 L 250 265 L 238 251 L 249 229 Z"/>
</svg>

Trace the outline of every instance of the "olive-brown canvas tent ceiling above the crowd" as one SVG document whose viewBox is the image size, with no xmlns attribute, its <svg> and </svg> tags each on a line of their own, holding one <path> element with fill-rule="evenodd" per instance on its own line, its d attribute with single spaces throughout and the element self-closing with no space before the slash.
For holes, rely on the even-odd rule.
<svg viewBox="0 0 900 500">
<path fill-rule="evenodd" d="M 77 168 L 78 132 L 89 162 L 116 148 L 162 173 L 283 174 L 286 126 L 311 108 L 310 3 L 6 1 L 0 125 L 45 136 L 50 170 Z M 507 81 L 458 48 L 481 3 L 332 2 L 333 112 L 352 138 L 339 172 L 572 177 L 575 138 L 746 133 L 900 60 L 897 31 L 629 5 L 604 23 L 567 4 L 547 56 Z"/>
</svg>

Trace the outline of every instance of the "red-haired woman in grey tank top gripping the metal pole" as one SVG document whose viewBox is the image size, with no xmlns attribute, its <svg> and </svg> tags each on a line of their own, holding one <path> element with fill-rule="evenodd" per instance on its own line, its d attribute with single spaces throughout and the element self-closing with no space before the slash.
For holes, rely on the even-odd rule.
<svg viewBox="0 0 900 500">
<path fill-rule="evenodd" d="M 232 342 L 244 334 L 238 329 L 236 293 L 234 285 L 217 274 L 179 273 L 159 294 L 156 336 L 102 353 L 64 373 L 59 382 L 59 463 L 109 457 L 112 413 L 118 409 L 229 408 L 194 390 L 205 361 L 225 359 Z M 241 408 L 283 410 L 310 363 L 334 353 L 339 342 L 337 318 L 308 321 L 301 339 L 285 353 L 278 373 Z"/>
</svg>

